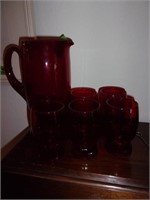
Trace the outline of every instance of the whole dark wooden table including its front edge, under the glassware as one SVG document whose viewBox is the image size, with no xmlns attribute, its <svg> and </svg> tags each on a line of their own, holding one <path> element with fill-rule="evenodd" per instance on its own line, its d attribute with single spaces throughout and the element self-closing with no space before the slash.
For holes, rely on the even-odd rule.
<svg viewBox="0 0 150 200">
<path fill-rule="evenodd" d="M 149 124 L 138 131 L 149 141 Z M 136 136 L 130 156 L 108 153 L 102 140 L 98 155 L 73 158 L 66 140 L 63 157 L 54 162 L 34 161 L 29 129 L 2 160 L 2 198 L 149 199 L 149 149 Z"/>
</svg>

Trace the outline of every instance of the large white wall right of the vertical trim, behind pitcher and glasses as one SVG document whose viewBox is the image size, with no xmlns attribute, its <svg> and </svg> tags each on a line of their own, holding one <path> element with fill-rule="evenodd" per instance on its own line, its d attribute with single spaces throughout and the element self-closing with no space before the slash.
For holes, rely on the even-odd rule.
<svg viewBox="0 0 150 200">
<path fill-rule="evenodd" d="M 148 1 L 35 1 L 37 35 L 73 39 L 72 87 L 119 85 L 149 119 Z"/>
</svg>

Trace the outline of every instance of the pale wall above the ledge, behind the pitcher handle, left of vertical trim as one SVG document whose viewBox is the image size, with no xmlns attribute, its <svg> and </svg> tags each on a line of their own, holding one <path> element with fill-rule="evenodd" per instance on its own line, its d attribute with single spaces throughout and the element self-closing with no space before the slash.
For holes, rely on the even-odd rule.
<svg viewBox="0 0 150 200">
<path fill-rule="evenodd" d="M 18 44 L 20 36 L 27 35 L 24 2 L 1 2 L 1 54 L 0 61 L 3 64 L 3 50 L 8 44 Z M 20 78 L 17 54 L 13 54 L 13 71 Z"/>
</svg>

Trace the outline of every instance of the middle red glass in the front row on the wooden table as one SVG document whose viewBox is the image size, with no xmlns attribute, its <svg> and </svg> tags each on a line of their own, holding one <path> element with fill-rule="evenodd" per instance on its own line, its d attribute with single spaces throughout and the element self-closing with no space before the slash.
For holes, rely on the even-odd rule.
<svg viewBox="0 0 150 200">
<path fill-rule="evenodd" d="M 92 158 L 97 154 L 95 119 L 99 103 L 94 100 L 74 100 L 69 104 L 72 127 L 72 150 L 75 157 Z"/>
</svg>

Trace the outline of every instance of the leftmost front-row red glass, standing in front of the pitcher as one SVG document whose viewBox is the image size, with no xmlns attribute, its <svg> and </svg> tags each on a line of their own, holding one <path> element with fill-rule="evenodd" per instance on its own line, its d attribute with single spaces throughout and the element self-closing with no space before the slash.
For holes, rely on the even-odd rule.
<svg viewBox="0 0 150 200">
<path fill-rule="evenodd" d="M 30 111 L 31 131 L 41 158 L 57 159 L 63 154 L 61 126 L 65 105 L 51 101 Z"/>
</svg>

